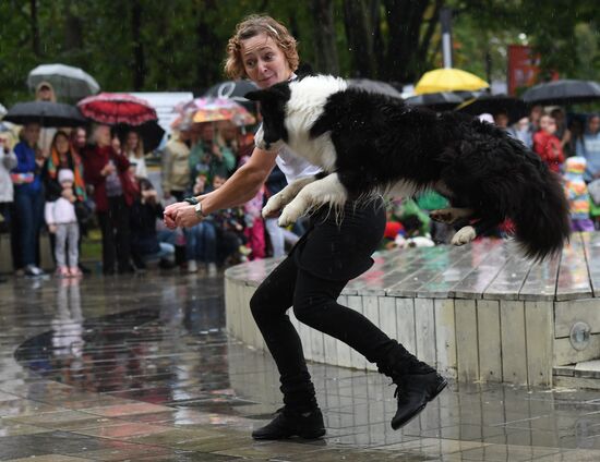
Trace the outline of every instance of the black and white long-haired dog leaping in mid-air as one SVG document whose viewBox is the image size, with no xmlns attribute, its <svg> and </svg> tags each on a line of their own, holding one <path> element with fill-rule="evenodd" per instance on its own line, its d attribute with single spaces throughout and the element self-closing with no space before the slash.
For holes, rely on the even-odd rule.
<svg viewBox="0 0 600 462">
<path fill-rule="evenodd" d="M 431 189 L 461 207 L 439 210 L 434 218 L 476 220 L 455 234 L 456 245 L 506 218 L 524 254 L 535 259 L 560 252 L 569 236 L 568 205 L 557 177 L 492 124 L 410 107 L 327 75 L 245 96 L 261 102 L 259 147 L 287 144 L 323 169 L 269 198 L 263 215 L 285 207 L 281 226 L 325 204 L 340 207 L 373 194 L 407 197 Z"/>
</svg>

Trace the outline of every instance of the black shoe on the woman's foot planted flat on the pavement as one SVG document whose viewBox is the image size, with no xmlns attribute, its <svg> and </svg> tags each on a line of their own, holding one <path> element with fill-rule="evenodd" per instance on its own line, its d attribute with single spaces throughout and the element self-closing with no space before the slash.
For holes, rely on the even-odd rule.
<svg viewBox="0 0 600 462">
<path fill-rule="evenodd" d="M 254 439 L 286 439 L 292 436 L 316 439 L 323 435 L 325 435 L 325 425 L 320 409 L 299 413 L 283 408 L 269 424 L 252 431 Z"/>
</svg>

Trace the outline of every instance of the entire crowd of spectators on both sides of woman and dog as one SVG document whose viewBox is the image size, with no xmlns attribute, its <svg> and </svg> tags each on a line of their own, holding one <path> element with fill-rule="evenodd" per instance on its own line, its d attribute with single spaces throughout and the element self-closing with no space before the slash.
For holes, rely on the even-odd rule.
<svg viewBox="0 0 600 462">
<path fill-rule="evenodd" d="M 38 97 L 52 100 L 51 86 L 41 85 Z M 561 108 L 547 112 L 536 106 L 512 125 L 505 113 L 482 120 L 506 130 L 562 177 L 574 230 L 600 228 L 600 115 L 567 123 Z M 148 178 L 143 139 L 133 129 L 117 133 L 96 125 L 88 133 L 85 127 L 31 123 L 15 142 L 0 134 L 0 214 L 10 230 L 15 273 L 44 275 L 40 234 L 47 232 L 57 276 L 81 277 L 82 270 L 88 271 L 80 262 L 82 235 L 93 228 L 101 234 L 105 275 L 158 266 L 212 277 L 230 264 L 285 255 L 286 245 L 301 235 L 302 223 L 281 229 L 276 218 L 261 215 L 268 197 L 287 184 L 277 168 L 242 207 L 212 214 L 184 230 L 172 231 L 161 222 L 164 207 L 220 187 L 253 147 L 251 131 L 228 121 L 182 121 L 161 153 L 157 192 Z M 449 242 L 454 230 L 429 216 L 447 205 L 432 192 L 391 202 L 381 247 Z"/>
</svg>

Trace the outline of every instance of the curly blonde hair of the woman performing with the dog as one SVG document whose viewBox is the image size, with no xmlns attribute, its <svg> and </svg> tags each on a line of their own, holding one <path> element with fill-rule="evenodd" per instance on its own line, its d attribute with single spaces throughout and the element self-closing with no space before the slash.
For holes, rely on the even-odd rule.
<svg viewBox="0 0 600 462">
<path fill-rule="evenodd" d="M 266 14 L 252 14 L 247 16 L 236 26 L 236 33 L 227 42 L 227 59 L 225 61 L 225 74 L 229 78 L 248 77 L 241 54 L 241 42 L 260 34 L 266 34 L 281 49 L 288 60 L 291 71 L 298 69 L 297 41 L 286 26 Z"/>
</svg>

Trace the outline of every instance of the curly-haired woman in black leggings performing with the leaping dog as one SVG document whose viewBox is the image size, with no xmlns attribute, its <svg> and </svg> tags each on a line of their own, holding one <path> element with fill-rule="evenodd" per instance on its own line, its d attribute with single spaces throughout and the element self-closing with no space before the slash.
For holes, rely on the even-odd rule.
<svg viewBox="0 0 600 462">
<path fill-rule="evenodd" d="M 227 53 L 225 69 L 229 76 L 249 77 L 261 88 L 293 78 L 299 61 L 293 37 L 268 16 L 249 16 L 240 23 L 229 39 Z M 254 148 L 248 162 L 219 190 L 195 198 L 197 205 L 191 206 L 194 199 L 190 198 L 189 203 L 169 206 L 166 224 L 193 226 L 206 214 L 250 200 L 275 165 L 288 182 L 319 171 L 285 148 Z M 348 280 L 372 265 L 371 254 L 384 227 L 381 199 L 377 204 L 347 204 L 340 226 L 325 207 L 313 216 L 307 234 L 254 293 L 250 307 L 277 363 L 285 406 L 273 422 L 254 430 L 253 438 L 319 438 L 325 434 L 300 338 L 286 315 L 291 306 L 300 321 L 346 342 L 392 377 L 398 386 L 398 410 L 392 420 L 395 429 L 422 411 L 446 386 L 432 367 L 419 362 L 364 316 L 336 302 Z"/>
</svg>

